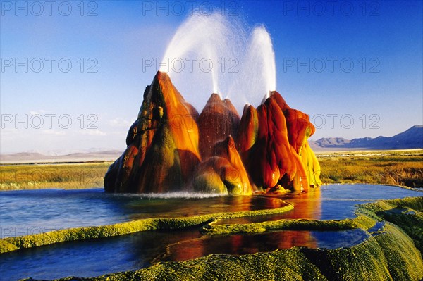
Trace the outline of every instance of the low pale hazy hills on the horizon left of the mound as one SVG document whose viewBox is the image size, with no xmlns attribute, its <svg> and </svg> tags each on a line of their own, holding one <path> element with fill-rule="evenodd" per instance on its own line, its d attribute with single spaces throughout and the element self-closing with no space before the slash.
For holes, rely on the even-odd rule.
<svg viewBox="0 0 423 281">
<path fill-rule="evenodd" d="M 119 150 L 77 152 L 66 155 L 45 155 L 38 152 L 20 152 L 16 154 L 0 154 L 0 163 L 115 161 L 121 154 L 122 151 Z"/>
</svg>

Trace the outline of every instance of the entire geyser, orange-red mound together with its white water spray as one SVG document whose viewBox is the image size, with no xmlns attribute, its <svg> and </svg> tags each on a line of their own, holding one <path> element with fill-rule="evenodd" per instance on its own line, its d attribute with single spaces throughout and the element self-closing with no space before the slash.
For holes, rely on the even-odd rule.
<svg viewBox="0 0 423 281">
<path fill-rule="evenodd" d="M 193 15 L 181 25 L 161 70 L 145 89 L 126 137 L 127 149 L 104 177 L 106 192 L 253 194 L 307 192 L 321 185 L 319 162 L 307 141 L 314 126 L 276 92 L 271 37 L 264 27 L 246 34 L 240 22 L 219 14 Z M 222 58 L 236 58 L 238 71 L 224 73 L 214 67 L 183 73 L 166 64 L 190 57 L 209 58 L 216 65 Z M 179 83 L 185 75 L 180 86 L 195 85 L 196 100 L 204 91 L 197 85 L 209 82 L 206 91 L 215 94 L 200 114 L 169 75 Z M 240 104 L 222 99 L 221 93 L 257 108 L 245 105 L 240 117 Z"/>
</svg>

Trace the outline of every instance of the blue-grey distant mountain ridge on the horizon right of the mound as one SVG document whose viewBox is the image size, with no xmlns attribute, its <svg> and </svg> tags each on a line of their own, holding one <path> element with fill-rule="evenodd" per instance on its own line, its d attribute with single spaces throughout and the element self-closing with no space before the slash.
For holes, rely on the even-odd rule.
<svg viewBox="0 0 423 281">
<path fill-rule="evenodd" d="M 393 137 L 363 137 L 351 140 L 342 137 L 326 137 L 310 141 L 309 144 L 315 151 L 325 149 L 422 149 L 423 125 L 415 125 Z"/>
</svg>

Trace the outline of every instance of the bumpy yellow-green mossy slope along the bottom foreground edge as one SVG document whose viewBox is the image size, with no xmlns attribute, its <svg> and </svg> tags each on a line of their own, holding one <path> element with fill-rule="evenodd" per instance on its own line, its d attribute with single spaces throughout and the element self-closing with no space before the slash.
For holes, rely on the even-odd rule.
<svg viewBox="0 0 423 281">
<path fill-rule="evenodd" d="M 422 257 L 397 227 L 350 248 L 293 247 L 243 256 L 209 255 L 191 261 L 81 280 L 412 280 L 423 277 Z M 70 278 L 61 279 L 75 280 Z"/>
</svg>

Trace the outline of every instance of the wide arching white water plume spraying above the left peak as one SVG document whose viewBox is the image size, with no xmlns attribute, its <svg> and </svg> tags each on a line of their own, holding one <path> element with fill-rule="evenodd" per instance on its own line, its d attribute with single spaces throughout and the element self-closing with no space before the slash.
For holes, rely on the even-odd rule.
<svg viewBox="0 0 423 281">
<path fill-rule="evenodd" d="M 168 44 L 160 71 L 168 73 L 176 85 L 188 82 L 187 78 L 189 81 L 200 79 L 208 92 L 219 94 L 219 78 L 222 76 L 219 64 L 225 66 L 221 59 L 236 58 L 237 49 L 245 42 L 242 30 L 236 25 L 237 22 L 219 13 L 192 15 L 180 25 Z M 241 32 L 235 34 L 235 30 Z M 200 89 L 204 88 L 202 85 Z"/>
</svg>

